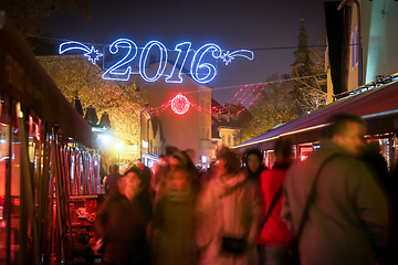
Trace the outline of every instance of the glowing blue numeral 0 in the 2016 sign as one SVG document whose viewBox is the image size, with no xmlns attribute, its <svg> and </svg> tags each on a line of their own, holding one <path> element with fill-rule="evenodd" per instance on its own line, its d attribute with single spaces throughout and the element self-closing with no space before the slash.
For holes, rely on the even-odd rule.
<svg viewBox="0 0 398 265">
<path fill-rule="evenodd" d="M 156 72 L 155 76 L 149 77 L 146 74 L 145 65 L 146 65 L 146 61 L 148 59 L 150 49 L 154 45 L 157 45 L 159 47 L 159 50 L 160 50 L 160 59 L 159 59 L 158 70 Z M 145 47 L 143 50 L 143 53 L 140 55 L 140 59 L 139 59 L 139 74 L 142 75 L 142 77 L 147 82 L 155 82 L 163 75 L 163 73 L 165 72 L 166 65 L 167 65 L 167 50 L 166 50 L 166 46 L 161 42 L 158 42 L 158 41 L 148 42 L 145 45 Z"/>
</svg>

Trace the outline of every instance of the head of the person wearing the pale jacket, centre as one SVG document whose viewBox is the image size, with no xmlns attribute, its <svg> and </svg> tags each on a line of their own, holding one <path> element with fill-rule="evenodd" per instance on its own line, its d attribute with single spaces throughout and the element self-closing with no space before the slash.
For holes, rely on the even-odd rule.
<svg viewBox="0 0 398 265">
<path fill-rule="evenodd" d="M 223 147 L 217 155 L 217 170 L 219 176 L 237 174 L 241 169 L 240 160 L 233 151 Z"/>
</svg>

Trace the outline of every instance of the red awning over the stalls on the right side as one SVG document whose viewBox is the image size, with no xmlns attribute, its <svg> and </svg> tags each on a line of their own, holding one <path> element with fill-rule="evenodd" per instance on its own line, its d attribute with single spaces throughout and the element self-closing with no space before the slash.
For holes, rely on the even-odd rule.
<svg viewBox="0 0 398 265">
<path fill-rule="evenodd" d="M 280 136 L 292 137 L 294 144 L 318 141 L 329 116 L 337 113 L 359 115 L 367 120 L 368 134 L 398 132 L 398 82 L 373 88 L 363 94 L 338 99 L 301 119 L 270 130 L 234 147 L 243 152 L 249 148 L 273 149 Z"/>
</svg>

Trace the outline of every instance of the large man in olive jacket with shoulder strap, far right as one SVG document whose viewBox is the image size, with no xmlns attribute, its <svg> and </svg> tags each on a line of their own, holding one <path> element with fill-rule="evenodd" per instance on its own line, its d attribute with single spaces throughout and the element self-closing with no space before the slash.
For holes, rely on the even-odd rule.
<svg viewBox="0 0 398 265">
<path fill-rule="evenodd" d="M 337 114 L 329 124 L 322 148 L 287 171 L 282 219 L 296 236 L 301 233 L 301 264 L 375 265 L 388 210 L 375 178 L 356 159 L 364 149 L 366 125 L 349 114 Z"/>
</svg>

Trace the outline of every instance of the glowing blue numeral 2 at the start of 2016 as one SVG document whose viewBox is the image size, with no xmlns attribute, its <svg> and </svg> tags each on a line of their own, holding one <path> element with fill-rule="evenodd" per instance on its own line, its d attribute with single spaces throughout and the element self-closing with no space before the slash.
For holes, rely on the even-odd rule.
<svg viewBox="0 0 398 265">
<path fill-rule="evenodd" d="M 129 80 L 129 76 L 132 74 L 132 66 L 128 66 L 127 70 L 124 72 L 119 72 L 117 70 L 123 67 L 124 65 L 128 64 L 129 62 L 132 62 L 135 59 L 135 56 L 137 55 L 137 45 L 128 39 L 119 39 L 111 44 L 109 52 L 112 54 L 116 54 L 118 52 L 121 44 L 126 44 L 128 52 L 121 61 L 118 61 L 117 63 L 112 65 L 112 67 L 108 68 L 102 75 L 102 77 L 104 80 L 118 80 L 118 81 L 128 81 Z M 126 47 L 126 46 L 121 46 L 121 47 Z M 134 50 L 133 53 L 132 53 L 132 50 Z"/>
</svg>

